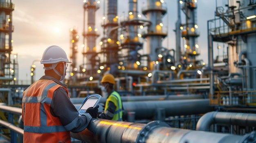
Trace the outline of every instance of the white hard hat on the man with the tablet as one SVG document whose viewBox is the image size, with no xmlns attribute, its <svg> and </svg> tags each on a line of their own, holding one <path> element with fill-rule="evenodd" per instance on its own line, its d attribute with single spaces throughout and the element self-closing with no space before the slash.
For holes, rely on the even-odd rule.
<svg viewBox="0 0 256 143">
<path fill-rule="evenodd" d="M 61 47 L 53 45 L 46 48 L 41 59 L 41 64 L 54 64 L 58 62 L 72 63 L 68 61 L 67 54 Z"/>
</svg>

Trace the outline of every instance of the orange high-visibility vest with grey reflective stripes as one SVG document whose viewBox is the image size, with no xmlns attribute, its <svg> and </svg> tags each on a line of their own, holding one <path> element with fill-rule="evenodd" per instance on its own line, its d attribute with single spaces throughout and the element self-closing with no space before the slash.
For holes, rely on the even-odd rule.
<svg viewBox="0 0 256 143">
<path fill-rule="evenodd" d="M 53 93 L 59 87 L 50 79 L 40 79 L 23 92 L 23 143 L 71 143 L 70 132 L 50 113 Z"/>
</svg>

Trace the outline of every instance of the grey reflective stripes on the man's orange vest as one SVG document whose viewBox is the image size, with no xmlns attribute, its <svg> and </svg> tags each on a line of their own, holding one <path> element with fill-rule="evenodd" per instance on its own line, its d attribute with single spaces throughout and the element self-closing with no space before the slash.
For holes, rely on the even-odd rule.
<svg viewBox="0 0 256 143">
<path fill-rule="evenodd" d="M 43 92 L 41 92 L 41 95 L 36 95 L 36 97 L 27 97 L 28 90 L 32 87 L 29 86 L 27 90 L 25 90 L 25 93 L 22 98 L 22 104 L 23 104 L 23 114 L 25 116 L 25 105 L 26 103 L 39 103 L 40 104 L 40 126 L 28 126 L 24 124 L 24 132 L 33 132 L 33 133 L 53 133 L 53 132 L 66 132 L 63 125 L 47 125 L 47 114 L 49 111 L 45 111 L 45 104 L 48 104 L 50 106 L 50 103 L 52 101 L 53 95 L 48 95 L 48 91 L 51 90 L 51 88 L 56 90 L 58 87 L 61 87 L 61 85 L 58 85 L 52 80 L 44 79 L 44 81 L 40 81 L 44 84 L 46 84 L 45 88 L 43 89 Z M 48 83 L 47 83 L 48 82 Z M 40 84 L 40 83 L 39 83 Z M 35 84 L 34 86 L 40 86 L 39 84 Z M 47 85 L 48 84 L 48 85 Z M 42 85 L 43 86 L 43 85 Z M 33 87 L 36 88 L 36 87 Z M 64 88 L 65 89 L 65 88 Z M 50 96 L 50 97 L 47 97 Z M 28 105 L 27 105 L 28 106 Z M 24 117 L 25 119 L 25 117 Z"/>
</svg>

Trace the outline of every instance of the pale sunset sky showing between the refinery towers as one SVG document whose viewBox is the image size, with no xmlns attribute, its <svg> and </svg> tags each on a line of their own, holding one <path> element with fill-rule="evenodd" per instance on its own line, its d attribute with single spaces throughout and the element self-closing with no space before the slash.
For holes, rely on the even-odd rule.
<svg viewBox="0 0 256 143">
<path fill-rule="evenodd" d="M 96 12 L 96 27 L 99 33 L 102 31 L 100 23 L 103 17 L 103 0 L 100 1 L 100 9 Z M 164 17 L 164 25 L 168 25 L 168 37 L 165 38 L 162 46 L 168 49 L 175 49 L 176 45 L 173 30 L 177 21 L 177 0 L 174 1 L 165 0 L 168 13 Z M 44 74 L 43 66 L 38 60 L 48 46 L 60 46 L 70 59 L 70 28 L 76 29 L 80 36 L 78 45 L 80 53 L 77 54 L 77 61 L 82 63 L 83 0 L 11 0 L 11 2 L 15 4 L 12 13 L 14 26 L 12 53 L 18 53 L 19 80 L 30 80 L 30 66 L 33 61 L 36 64 L 36 79 Z M 146 0 L 138 0 L 139 13 L 145 3 Z M 215 0 L 198 0 L 197 19 L 200 31 L 198 44 L 201 51 L 198 58 L 207 63 L 207 20 L 214 18 L 215 6 Z M 128 0 L 118 0 L 118 16 L 123 15 L 128 15 Z M 181 15 L 184 17 L 184 13 Z M 146 17 L 142 18 L 146 19 Z M 184 20 L 182 22 L 184 23 Z M 97 46 L 99 42 L 100 37 L 97 38 Z"/>
</svg>

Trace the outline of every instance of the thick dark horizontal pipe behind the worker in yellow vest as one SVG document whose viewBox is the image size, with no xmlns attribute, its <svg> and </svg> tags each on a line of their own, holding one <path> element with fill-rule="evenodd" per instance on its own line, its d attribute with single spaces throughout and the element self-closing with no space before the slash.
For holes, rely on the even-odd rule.
<svg viewBox="0 0 256 143">
<path fill-rule="evenodd" d="M 81 104 L 74 105 L 78 109 Z M 128 112 L 135 112 L 135 119 L 153 119 L 158 109 L 164 109 L 166 117 L 214 111 L 214 108 L 209 106 L 209 99 L 134 101 L 123 102 L 123 106 L 124 116 L 126 117 Z"/>
</svg>

